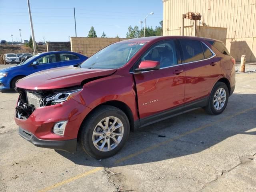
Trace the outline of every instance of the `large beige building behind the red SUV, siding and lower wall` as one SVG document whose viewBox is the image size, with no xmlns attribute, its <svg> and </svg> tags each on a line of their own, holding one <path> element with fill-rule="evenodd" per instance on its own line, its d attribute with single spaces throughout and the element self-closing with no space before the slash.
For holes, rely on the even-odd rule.
<svg viewBox="0 0 256 192">
<path fill-rule="evenodd" d="M 164 35 L 182 35 L 182 14 L 199 12 L 197 30 L 210 26 L 214 31 L 198 36 L 220 39 L 224 34 L 226 42 L 221 40 L 237 61 L 241 55 L 248 62 L 256 61 L 256 0 L 163 0 L 163 4 Z M 186 27 L 192 25 L 193 20 L 184 19 L 184 35 L 193 35 Z"/>
</svg>

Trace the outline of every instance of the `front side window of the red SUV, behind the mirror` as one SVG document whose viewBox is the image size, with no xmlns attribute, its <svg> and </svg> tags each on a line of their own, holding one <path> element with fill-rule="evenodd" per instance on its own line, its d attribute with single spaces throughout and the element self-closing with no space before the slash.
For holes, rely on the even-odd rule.
<svg viewBox="0 0 256 192">
<path fill-rule="evenodd" d="M 174 40 L 160 42 L 152 46 L 143 54 L 141 61 L 159 61 L 160 68 L 178 64 Z"/>
</svg>

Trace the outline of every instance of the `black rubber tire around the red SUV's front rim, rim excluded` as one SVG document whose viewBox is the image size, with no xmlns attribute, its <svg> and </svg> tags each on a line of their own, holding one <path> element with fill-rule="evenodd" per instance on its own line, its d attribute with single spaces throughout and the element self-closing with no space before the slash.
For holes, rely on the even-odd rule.
<svg viewBox="0 0 256 192">
<path fill-rule="evenodd" d="M 103 159 L 110 156 L 113 156 L 116 154 L 125 144 L 129 132 L 130 132 L 130 124 L 128 121 L 127 116 L 122 112 L 122 110 L 108 106 L 106 108 L 102 108 L 103 110 L 97 110 L 96 113 L 92 114 L 88 120 L 86 120 L 86 123 L 83 126 L 84 132 L 82 134 L 82 147 L 88 153 L 90 156 L 93 156 L 96 159 Z M 108 152 L 102 152 L 99 151 L 93 144 L 92 141 L 92 133 L 94 131 L 94 128 L 100 122 L 102 119 L 108 117 L 108 116 L 114 116 L 121 120 L 123 126 L 124 126 L 124 135 L 121 140 L 121 142 L 111 151 Z"/>
</svg>

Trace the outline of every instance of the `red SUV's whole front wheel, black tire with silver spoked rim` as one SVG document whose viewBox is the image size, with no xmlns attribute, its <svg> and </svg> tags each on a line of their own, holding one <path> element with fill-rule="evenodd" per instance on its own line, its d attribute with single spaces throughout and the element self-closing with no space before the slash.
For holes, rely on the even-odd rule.
<svg viewBox="0 0 256 192">
<path fill-rule="evenodd" d="M 106 127 L 106 119 L 108 118 L 109 124 Z M 116 130 L 112 129 L 111 132 L 110 128 L 114 120 L 116 120 L 114 127 L 119 126 L 119 128 L 116 128 Z M 98 107 L 92 114 L 86 117 L 81 126 L 79 141 L 86 154 L 96 159 L 104 159 L 113 156 L 121 150 L 128 139 L 129 132 L 130 124 L 126 114 L 119 108 L 104 105 Z M 116 134 L 119 135 L 117 136 Z M 100 137 L 102 137 L 101 140 Z M 116 142 L 114 142 L 113 137 L 116 139 Z"/>
</svg>

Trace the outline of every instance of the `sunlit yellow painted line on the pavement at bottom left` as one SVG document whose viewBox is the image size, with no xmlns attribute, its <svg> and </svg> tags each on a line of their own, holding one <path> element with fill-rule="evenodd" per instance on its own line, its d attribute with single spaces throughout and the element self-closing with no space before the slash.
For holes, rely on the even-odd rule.
<svg viewBox="0 0 256 192">
<path fill-rule="evenodd" d="M 74 176 L 74 177 L 71 177 L 71 178 L 69 178 L 69 179 L 67 179 L 67 180 L 63 180 L 62 182 L 56 183 L 56 184 L 54 184 L 54 185 L 52 185 L 52 186 L 48 186 L 48 187 L 46 187 L 46 188 L 40 190 L 39 192 L 46 192 L 46 191 L 52 190 L 53 188 L 62 186 L 62 185 L 64 185 L 64 184 L 70 183 L 70 182 L 72 182 L 72 181 L 74 181 L 74 180 L 78 180 L 79 178 L 82 178 L 82 177 L 88 176 L 88 175 L 90 175 L 90 174 L 93 174 L 93 173 L 95 173 L 95 172 L 98 172 L 99 170 L 103 170 L 103 168 L 102 168 L 102 167 L 98 167 L 98 168 L 92 169 L 92 170 L 90 170 L 90 171 L 87 171 L 87 172 L 84 172 L 84 173 L 82 173 L 82 174 L 79 174 L 79 175 L 76 175 L 76 176 Z"/>
</svg>

